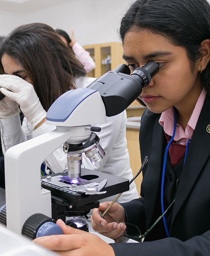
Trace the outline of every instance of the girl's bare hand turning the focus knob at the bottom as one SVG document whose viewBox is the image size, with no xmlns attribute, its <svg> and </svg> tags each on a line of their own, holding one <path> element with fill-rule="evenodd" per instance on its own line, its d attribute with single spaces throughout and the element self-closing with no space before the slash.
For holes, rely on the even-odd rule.
<svg viewBox="0 0 210 256">
<path fill-rule="evenodd" d="M 57 220 L 56 224 L 62 228 L 63 235 L 42 236 L 36 238 L 34 242 L 65 256 L 115 255 L 111 245 L 98 236 L 71 228 L 62 220 Z"/>
</svg>

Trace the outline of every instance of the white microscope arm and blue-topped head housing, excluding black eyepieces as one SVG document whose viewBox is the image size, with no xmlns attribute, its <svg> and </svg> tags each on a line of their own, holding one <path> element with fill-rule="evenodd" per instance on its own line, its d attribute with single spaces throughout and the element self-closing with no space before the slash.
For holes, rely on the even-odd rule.
<svg viewBox="0 0 210 256">
<path fill-rule="evenodd" d="M 42 162 L 62 143 L 86 140 L 91 125 L 106 120 L 99 92 L 89 88 L 70 90 L 50 110 L 47 123 L 56 125 L 55 130 L 11 147 L 5 154 L 6 222 L 16 234 L 22 233 L 24 223 L 35 213 L 51 217 L 51 193 L 41 188 Z"/>
</svg>

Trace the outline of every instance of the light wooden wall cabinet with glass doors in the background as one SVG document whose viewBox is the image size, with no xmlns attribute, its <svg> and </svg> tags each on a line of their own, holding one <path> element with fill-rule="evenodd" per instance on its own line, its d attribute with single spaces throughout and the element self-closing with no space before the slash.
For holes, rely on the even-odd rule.
<svg viewBox="0 0 210 256">
<path fill-rule="evenodd" d="M 89 77 L 98 78 L 121 63 L 126 63 L 122 58 L 123 46 L 119 42 L 85 45 L 83 48 L 90 53 L 96 63 L 96 68 L 87 74 Z"/>
</svg>

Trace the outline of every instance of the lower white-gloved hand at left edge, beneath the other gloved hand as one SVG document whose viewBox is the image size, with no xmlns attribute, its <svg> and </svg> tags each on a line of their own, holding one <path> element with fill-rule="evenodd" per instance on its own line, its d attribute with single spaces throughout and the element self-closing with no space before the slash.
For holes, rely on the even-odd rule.
<svg viewBox="0 0 210 256">
<path fill-rule="evenodd" d="M 8 97 L 4 97 L 0 101 L 0 119 L 16 116 L 20 113 L 18 103 L 14 100 L 10 100 Z"/>
</svg>

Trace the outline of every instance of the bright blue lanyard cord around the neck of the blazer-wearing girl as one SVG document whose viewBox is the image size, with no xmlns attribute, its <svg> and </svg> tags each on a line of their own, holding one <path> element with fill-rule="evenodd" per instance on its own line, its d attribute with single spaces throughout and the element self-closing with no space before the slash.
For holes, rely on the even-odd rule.
<svg viewBox="0 0 210 256">
<path fill-rule="evenodd" d="M 162 182 L 161 182 L 161 209 L 162 209 L 162 214 L 164 213 L 164 207 L 163 207 L 163 184 L 164 184 L 164 176 L 165 176 L 165 170 L 166 170 L 166 159 L 167 159 L 167 154 L 168 154 L 168 149 L 170 144 L 172 143 L 174 136 L 175 136 L 175 132 L 176 132 L 176 108 L 174 108 L 174 131 L 173 131 L 173 135 L 172 138 L 170 139 L 167 147 L 166 147 L 166 151 L 165 151 L 165 156 L 164 156 L 164 162 L 163 162 L 163 172 L 162 172 Z M 187 145 L 186 145 L 186 151 L 185 151 L 185 156 L 184 156 L 184 162 L 187 156 L 187 151 L 188 151 L 188 145 L 189 145 L 190 139 L 188 139 L 187 141 Z M 163 222 L 164 222 L 164 226 L 166 229 L 166 233 L 167 236 L 169 237 L 169 231 L 167 228 L 167 224 L 166 224 L 166 217 L 165 215 L 163 215 Z"/>
</svg>

